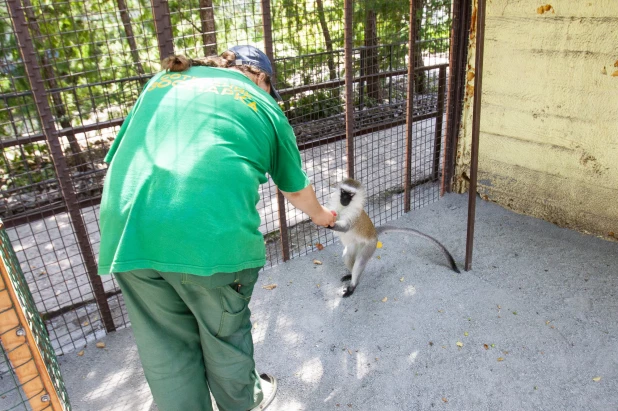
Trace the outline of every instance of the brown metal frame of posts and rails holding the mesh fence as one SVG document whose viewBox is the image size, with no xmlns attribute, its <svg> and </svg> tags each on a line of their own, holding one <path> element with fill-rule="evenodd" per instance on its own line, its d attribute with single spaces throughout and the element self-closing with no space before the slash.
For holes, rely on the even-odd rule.
<svg viewBox="0 0 618 411">
<path fill-rule="evenodd" d="M 36 210 L 36 212 L 28 215 L 8 219 L 5 221 L 7 227 L 17 226 L 24 222 L 31 222 L 41 219 L 45 216 L 55 215 L 60 212 L 68 212 L 71 224 L 77 239 L 77 245 L 83 261 L 85 263 L 88 279 L 92 286 L 92 291 L 100 313 L 102 322 L 106 332 L 114 331 L 117 324 L 114 322 L 108 298 L 109 291 L 106 293 L 101 278 L 97 275 L 96 256 L 93 251 L 92 244 L 89 239 L 87 223 L 84 221 L 82 210 L 84 207 L 98 204 L 100 197 L 94 197 L 87 200 L 79 200 L 76 196 L 75 188 L 71 183 L 71 175 L 65 155 L 63 153 L 60 138 L 69 133 L 86 132 L 100 129 L 107 129 L 113 126 L 122 124 L 123 119 L 113 119 L 102 122 L 97 122 L 90 125 L 82 125 L 71 128 L 58 129 L 54 114 L 50 107 L 49 101 L 51 94 L 59 91 L 57 89 L 49 89 L 45 87 L 43 75 L 41 74 L 41 65 L 37 61 L 37 53 L 35 50 L 32 34 L 28 27 L 24 7 L 21 0 L 6 0 L 7 6 L 13 21 L 15 34 L 18 39 L 20 52 L 23 63 L 27 68 L 27 78 L 31 86 L 31 94 L 34 97 L 38 117 L 42 125 L 43 133 L 34 134 L 28 137 L 16 138 L 15 140 L 0 140 L 0 148 L 20 145 L 23 143 L 31 143 L 35 141 L 46 141 L 50 147 L 51 155 L 55 172 L 58 178 L 60 189 L 63 196 L 63 204 L 53 207 Z M 470 1 L 469 0 L 453 0 L 452 18 L 453 28 L 450 36 L 450 61 L 449 63 L 434 64 L 429 66 L 418 67 L 414 59 L 414 48 L 418 46 L 419 40 L 414 37 L 415 16 L 415 0 L 409 2 L 409 27 L 410 35 L 408 38 L 409 61 L 406 69 L 397 69 L 382 71 L 373 74 L 364 74 L 361 68 L 360 75 L 355 75 L 354 62 L 357 60 L 357 55 L 367 52 L 367 47 L 355 47 L 353 39 L 353 24 L 354 24 L 354 0 L 344 0 L 344 59 L 345 59 L 345 77 L 343 79 L 334 79 L 317 84 L 311 84 L 301 87 L 282 88 L 282 95 L 290 95 L 305 91 L 315 91 L 320 89 L 329 89 L 334 87 L 345 88 L 345 132 L 337 135 L 330 135 L 323 139 L 316 139 L 299 144 L 301 150 L 309 150 L 324 145 L 328 145 L 337 141 L 345 140 L 347 158 L 352 161 L 347 161 L 347 175 L 354 177 L 355 170 L 355 138 L 364 135 L 368 132 L 377 132 L 381 128 L 392 128 L 395 126 L 405 125 L 405 164 L 404 183 L 403 183 L 403 201 L 404 212 L 412 209 L 412 196 L 415 184 L 422 184 L 425 181 L 413 182 L 413 124 L 419 121 L 435 118 L 435 132 L 431 139 L 433 141 L 433 158 L 432 175 L 433 180 L 440 182 L 440 194 L 450 191 L 451 181 L 454 175 L 454 159 L 455 147 L 457 146 L 457 135 L 459 129 L 459 118 L 461 116 L 461 102 L 463 101 L 463 85 L 464 85 L 464 70 L 465 57 L 467 51 L 467 31 L 469 26 Z M 157 45 L 159 56 L 164 58 L 174 53 L 174 37 L 173 28 L 170 18 L 169 3 L 166 0 L 152 0 L 152 15 L 156 29 Z M 211 5 L 212 7 L 212 5 Z M 278 60 L 278 56 L 273 50 L 273 31 L 272 31 L 272 11 L 270 0 L 260 0 L 261 17 L 264 49 L 266 54 L 274 61 Z M 214 24 L 214 22 L 213 22 Z M 371 48 L 373 46 L 369 46 Z M 392 47 L 392 46 L 391 46 Z M 362 54 L 361 54 L 362 55 Z M 363 59 L 360 59 L 361 64 Z M 401 120 L 385 123 L 382 126 L 372 125 L 368 128 L 358 128 L 355 124 L 355 103 L 354 90 L 362 90 L 365 82 L 380 78 L 392 79 L 397 76 L 407 75 L 408 79 L 414 78 L 419 73 L 429 73 L 430 71 L 438 72 L 438 99 L 436 109 L 423 114 L 414 113 L 414 81 L 407 81 L 407 104 L 405 116 Z M 136 79 L 147 80 L 151 75 L 144 73 L 139 77 L 125 78 L 118 81 L 135 81 Z M 276 79 L 276 76 L 275 76 Z M 389 83 L 389 84 L 392 84 Z M 447 92 L 448 87 L 448 92 Z M 362 91 L 360 94 L 362 100 Z M 362 104 L 362 101 L 361 101 Z M 443 124 L 443 119 L 446 117 L 446 127 Z M 446 133 L 446 135 L 444 135 Z M 442 141 L 444 140 L 444 146 Z M 440 175 L 440 163 L 443 163 L 443 172 Z M 278 219 L 279 229 L 278 237 L 281 247 L 281 260 L 287 261 L 293 255 L 290 245 L 289 232 L 289 216 L 286 214 L 286 202 L 280 192 L 277 192 L 278 202 Z"/>
</svg>

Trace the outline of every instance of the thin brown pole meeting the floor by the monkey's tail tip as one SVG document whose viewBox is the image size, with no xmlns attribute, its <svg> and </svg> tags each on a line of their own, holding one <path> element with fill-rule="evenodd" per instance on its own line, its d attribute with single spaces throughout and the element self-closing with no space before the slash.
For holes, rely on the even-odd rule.
<svg viewBox="0 0 618 411">
<path fill-rule="evenodd" d="M 472 268 L 474 220 L 476 215 L 476 181 L 479 165 L 479 133 L 481 127 L 481 97 L 483 94 L 483 53 L 485 48 L 485 10 L 487 2 L 478 0 L 476 12 L 476 55 L 474 62 L 474 108 L 472 113 L 472 154 L 470 187 L 468 188 L 468 235 L 466 238 L 466 271 Z"/>
</svg>

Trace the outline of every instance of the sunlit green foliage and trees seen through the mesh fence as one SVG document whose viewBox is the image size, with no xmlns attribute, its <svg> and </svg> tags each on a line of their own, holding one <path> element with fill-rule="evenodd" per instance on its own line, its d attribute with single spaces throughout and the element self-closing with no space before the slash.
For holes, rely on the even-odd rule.
<svg viewBox="0 0 618 411">
<path fill-rule="evenodd" d="M 448 51 L 451 0 L 415 0 L 420 51 Z M 127 35 L 121 6 L 126 3 L 134 44 Z M 177 53 L 203 55 L 200 6 L 213 5 L 216 49 L 234 44 L 263 46 L 258 0 L 170 0 L 169 9 Z M 127 115 L 145 81 L 159 70 L 159 52 L 149 0 L 22 0 L 56 128 L 77 127 Z M 272 0 L 272 31 L 279 88 L 339 79 L 344 73 L 343 0 Z M 369 12 L 375 15 L 379 70 L 405 68 L 409 33 L 408 0 L 357 0 L 354 3 L 354 46 L 363 46 Z M 136 58 L 139 61 L 136 61 Z M 355 71 L 360 70 L 355 62 Z M 10 141 L 42 133 L 25 67 L 17 48 L 5 0 L 0 0 L 0 139 Z M 291 117 L 312 113 L 327 117 L 342 111 L 336 90 L 299 93 L 286 98 Z M 296 114 L 294 114 L 296 111 Z M 112 130 L 113 131 L 113 130 Z M 85 151 L 105 146 L 101 132 L 81 138 Z M 66 142 L 66 141 L 65 141 Z M 67 143 L 68 146 L 68 143 Z M 104 150 L 98 150 L 104 152 Z M 73 150 L 73 154 L 75 150 Z M 91 159 L 92 160 L 92 159 Z M 100 159 L 97 160 L 100 163 Z M 43 142 L 3 149 L 0 189 L 53 178 Z"/>
</svg>

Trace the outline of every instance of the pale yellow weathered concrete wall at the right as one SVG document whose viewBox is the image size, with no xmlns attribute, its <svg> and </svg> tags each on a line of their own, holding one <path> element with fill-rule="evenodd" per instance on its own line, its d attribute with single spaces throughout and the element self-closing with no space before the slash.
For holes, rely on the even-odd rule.
<svg viewBox="0 0 618 411">
<path fill-rule="evenodd" d="M 472 31 L 459 192 L 470 165 L 474 45 Z M 489 0 L 483 64 L 479 194 L 618 238 L 618 0 Z"/>
</svg>

